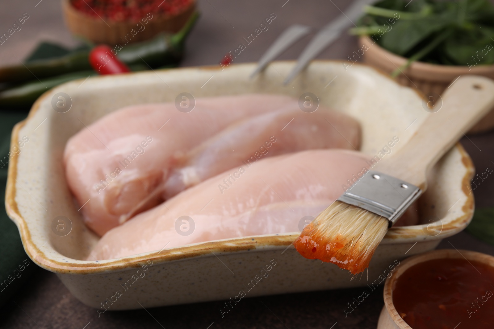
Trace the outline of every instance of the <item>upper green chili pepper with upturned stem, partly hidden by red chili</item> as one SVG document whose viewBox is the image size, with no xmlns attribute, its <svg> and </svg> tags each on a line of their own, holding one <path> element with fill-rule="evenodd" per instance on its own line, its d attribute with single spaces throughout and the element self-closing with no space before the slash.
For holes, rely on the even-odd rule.
<svg viewBox="0 0 494 329">
<path fill-rule="evenodd" d="M 139 43 L 124 45 L 117 57 L 127 65 L 141 64 L 150 68 L 177 64 L 183 56 L 185 38 L 192 30 L 198 12 L 194 12 L 185 26 L 174 35 L 158 36 Z M 89 50 L 77 51 L 54 59 L 35 60 L 16 66 L 0 68 L 0 82 L 24 82 L 64 73 L 91 70 Z M 39 81 L 38 81 L 39 82 Z M 36 81 L 30 83 L 34 86 Z"/>
</svg>

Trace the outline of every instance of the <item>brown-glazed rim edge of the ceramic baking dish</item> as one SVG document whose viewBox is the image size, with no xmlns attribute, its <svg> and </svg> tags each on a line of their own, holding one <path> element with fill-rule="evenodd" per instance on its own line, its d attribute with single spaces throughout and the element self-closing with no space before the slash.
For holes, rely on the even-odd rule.
<svg viewBox="0 0 494 329">
<path fill-rule="evenodd" d="M 279 61 L 279 62 L 288 62 L 294 64 L 294 61 Z M 316 63 L 341 63 L 342 61 L 336 60 L 318 60 Z M 238 64 L 238 65 L 251 65 L 251 63 L 246 64 Z M 369 67 L 363 65 L 365 67 Z M 178 68 L 174 70 L 190 70 L 191 68 Z M 199 70 L 219 70 L 221 67 L 219 65 L 216 66 L 205 66 L 205 67 L 196 67 L 194 69 Z M 375 70 L 375 69 L 374 69 Z M 391 79 L 387 74 L 379 72 L 386 78 L 390 79 L 394 83 L 396 83 L 393 79 Z M 124 74 L 132 74 L 132 73 L 124 73 Z M 136 73 L 142 74 L 142 73 Z M 145 73 L 144 73 L 145 74 Z M 113 78 L 110 76 L 103 77 L 94 77 L 94 78 Z M 74 81 L 81 81 L 82 79 L 73 80 L 67 83 L 71 83 Z M 56 88 L 56 87 L 55 87 Z M 17 141 L 19 130 L 26 124 L 26 121 L 33 117 L 33 115 L 39 110 L 41 101 L 50 93 L 51 90 L 46 91 L 43 95 L 41 95 L 38 100 L 34 103 L 31 108 L 28 117 L 17 123 L 12 130 L 11 140 L 10 140 L 10 149 Z M 417 94 L 422 97 L 422 94 L 416 91 Z M 461 144 L 457 143 L 456 148 L 461 153 L 461 161 L 466 168 L 466 174 L 462 179 L 462 191 L 465 193 L 467 199 L 462 206 L 463 215 L 452 220 L 451 222 L 445 224 L 440 234 L 436 237 L 437 239 L 442 239 L 446 237 L 448 231 L 452 231 L 457 229 L 459 225 L 467 224 L 469 220 L 473 216 L 473 207 L 474 207 L 474 199 L 473 194 L 468 194 L 468 186 L 470 186 L 470 180 L 473 177 L 475 168 L 473 166 L 472 160 L 470 156 L 463 149 Z M 102 273 L 107 270 L 118 271 L 131 267 L 140 267 L 145 261 L 151 259 L 157 262 L 165 262 L 165 261 L 175 261 L 181 260 L 185 258 L 192 258 L 197 256 L 202 256 L 208 254 L 211 256 L 212 252 L 216 253 L 232 253 L 232 252 L 247 252 L 251 249 L 256 249 L 259 247 L 264 247 L 268 249 L 269 247 L 273 247 L 273 249 L 284 249 L 287 248 L 295 241 L 295 239 L 299 236 L 296 234 L 274 234 L 269 236 L 256 236 L 256 237 L 245 237 L 245 238 L 232 238 L 228 240 L 222 241 L 210 241 L 210 242 L 202 242 L 196 245 L 189 245 L 184 247 L 177 247 L 170 250 L 163 250 L 161 252 L 151 252 L 146 255 L 138 255 L 138 256 L 129 256 L 124 258 L 117 258 L 114 260 L 101 260 L 101 261 L 87 261 L 81 262 L 82 260 L 76 260 L 77 262 L 71 262 L 72 258 L 67 257 L 66 262 L 58 261 L 49 258 L 42 251 L 41 248 L 37 248 L 35 243 L 31 239 L 31 233 L 28 229 L 27 223 L 24 218 L 21 216 L 19 209 L 17 207 L 17 202 L 15 201 L 16 195 L 16 177 L 17 177 L 17 155 L 13 156 L 10 159 L 10 163 L 8 166 L 7 173 L 7 186 L 5 190 L 5 209 L 7 211 L 8 216 L 16 223 L 20 235 L 22 244 L 28 256 L 33 259 L 38 265 L 41 267 L 55 273 L 63 273 L 63 274 L 97 274 Z M 384 244 L 393 243 L 393 240 L 398 238 L 413 238 L 417 235 L 425 235 L 422 230 L 424 225 L 414 225 L 414 226 L 403 226 L 403 227 L 391 227 L 383 239 Z M 41 246 L 42 247 L 42 246 Z M 271 248 L 269 248 L 271 249 Z M 56 252 L 56 251 L 55 251 Z"/>
</svg>

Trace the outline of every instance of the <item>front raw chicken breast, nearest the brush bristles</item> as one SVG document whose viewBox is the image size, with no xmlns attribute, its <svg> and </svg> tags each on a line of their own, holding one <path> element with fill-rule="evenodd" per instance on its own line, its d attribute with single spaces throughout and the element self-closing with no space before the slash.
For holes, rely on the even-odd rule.
<svg viewBox="0 0 494 329">
<path fill-rule="evenodd" d="M 352 175 L 368 168 L 366 159 L 355 151 L 308 150 L 237 167 L 113 228 L 88 259 L 300 231 L 303 217 L 316 217 L 343 193 Z"/>
</svg>

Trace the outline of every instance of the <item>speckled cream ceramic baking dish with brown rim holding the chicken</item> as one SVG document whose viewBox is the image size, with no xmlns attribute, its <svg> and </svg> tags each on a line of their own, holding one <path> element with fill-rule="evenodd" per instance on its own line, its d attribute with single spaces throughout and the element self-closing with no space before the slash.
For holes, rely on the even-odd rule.
<svg viewBox="0 0 494 329">
<path fill-rule="evenodd" d="M 252 80 L 248 76 L 255 64 L 100 76 L 45 93 L 12 132 L 13 151 L 18 147 L 16 141 L 24 136 L 29 139 L 10 160 L 5 200 L 27 254 L 57 273 L 83 303 L 101 311 L 124 310 L 365 286 L 380 278 L 396 259 L 432 250 L 441 239 L 465 228 L 473 214 L 469 189 L 474 167 L 457 144 L 434 167 L 429 189 L 416 206 L 422 224 L 391 228 L 369 270 L 358 278 L 333 264 L 300 256 L 291 245 L 298 232 L 211 241 L 119 259 L 83 260 L 98 237 L 82 223 L 81 205 L 74 202 L 65 182 L 62 153 L 72 135 L 113 110 L 130 104 L 173 102 L 183 92 L 194 97 L 275 93 L 295 98 L 310 92 L 321 104 L 361 122 L 362 151 L 369 155 L 378 155 L 394 136 L 400 142 L 393 150 L 405 145 L 429 114 L 417 92 L 370 67 L 355 64 L 345 71 L 341 62 L 314 61 L 294 82 L 283 85 L 283 76 L 293 65 L 275 62 Z M 65 108 L 56 107 L 60 101 L 67 102 Z M 69 103 L 70 110 L 64 112 Z M 53 229 L 58 216 L 70 219 L 70 233 L 65 236 Z"/>
</svg>

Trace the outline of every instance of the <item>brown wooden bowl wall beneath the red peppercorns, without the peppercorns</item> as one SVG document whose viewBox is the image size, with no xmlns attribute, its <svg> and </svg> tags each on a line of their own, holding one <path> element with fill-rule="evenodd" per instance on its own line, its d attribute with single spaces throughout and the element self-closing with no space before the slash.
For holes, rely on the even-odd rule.
<svg viewBox="0 0 494 329">
<path fill-rule="evenodd" d="M 185 25 L 195 7 L 196 1 L 191 0 L 189 6 L 174 15 L 152 14 L 151 18 L 143 17 L 144 20 L 135 22 L 113 21 L 109 18 L 89 16 L 74 8 L 70 0 L 62 0 L 65 24 L 74 35 L 95 43 L 110 45 L 143 41 L 164 31 L 176 33 Z"/>
</svg>

